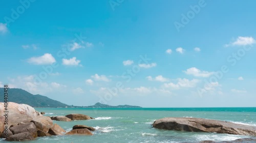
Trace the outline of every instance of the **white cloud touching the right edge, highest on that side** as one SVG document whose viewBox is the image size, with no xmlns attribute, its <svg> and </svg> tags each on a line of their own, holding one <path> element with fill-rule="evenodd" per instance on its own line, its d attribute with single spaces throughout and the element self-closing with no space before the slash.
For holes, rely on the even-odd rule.
<svg viewBox="0 0 256 143">
<path fill-rule="evenodd" d="M 225 46 L 245 46 L 254 44 L 256 41 L 252 37 L 238 37 L 236 41 L 232 42 L 231 44 L 226 44 Z"/>
</svg>

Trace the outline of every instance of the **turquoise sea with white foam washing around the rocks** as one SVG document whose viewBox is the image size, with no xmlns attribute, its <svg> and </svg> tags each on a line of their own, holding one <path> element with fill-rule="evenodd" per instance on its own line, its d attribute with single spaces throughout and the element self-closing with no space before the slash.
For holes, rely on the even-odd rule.
<svg viewBox="0 0 256 143">
<path fill-rule="evenodd" d="M 155 120 L 165 117 L 204 118 L 229 121 L 256 126 L 256 107 L 232 108 L 35 108 L 46 112 L 45 116 L 66 116 L 81 113 L 94 120 L 61 122 L 53 121 L 66 131 L 74 125 L 94 127 L 92 136 L 60 135 L 37 137 L 28 143 L 78 143 L 78 142 L 118 142 L 118 143 L 178 143 L 200 142 L 203 140 L 229 141 L 239 138 L 254 138 L 246 135 L 231 135 L 206 132 L 186 132 L 159 130 L 152 128 Z M 1 142 L 7 142 L 0 139 Z"/>
</svg>

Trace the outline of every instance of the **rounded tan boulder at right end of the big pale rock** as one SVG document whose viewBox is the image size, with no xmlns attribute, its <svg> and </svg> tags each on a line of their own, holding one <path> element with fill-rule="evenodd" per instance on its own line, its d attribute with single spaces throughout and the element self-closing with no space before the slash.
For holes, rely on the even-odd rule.
<svg viewBox="0 0 256 143">
<path fill-rule="evenodd" d="M 53 127 L 51 118 L 47 116 L 35 117 L 31 122 L 35 124 L 37 129 L 45 132 L 48 132 Z"/>
</svg>

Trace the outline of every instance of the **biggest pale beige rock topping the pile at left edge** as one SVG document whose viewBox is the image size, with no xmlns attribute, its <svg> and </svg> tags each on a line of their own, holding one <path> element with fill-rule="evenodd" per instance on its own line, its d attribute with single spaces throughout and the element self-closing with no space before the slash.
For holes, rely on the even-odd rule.
<svg viewBox="0 0 256 143">
<path fill-rule="evenodd" d="M 8 102 L 8 126 L 17 125 L 20 122 L 29 123 L 33 118 L 42 116 L 33 107 L 27 104 L 17 104 L 14 102 Z M 4 115 L 4 103 L 0 102 L 0 115 Z M 1 118 L 1 121 L 4 119 Z M 1 122 L 3 123 L 3 122 Z M 1 129 L 0 123 L 0 131 Z"/>
</svg>

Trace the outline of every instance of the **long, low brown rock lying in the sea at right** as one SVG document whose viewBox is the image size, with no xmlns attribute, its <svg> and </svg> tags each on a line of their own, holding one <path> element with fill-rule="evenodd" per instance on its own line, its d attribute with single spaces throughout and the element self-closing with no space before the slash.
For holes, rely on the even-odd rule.
<svg viewBox="0 0 256 143">
<path fill-rule="evenodd" d="M 156 120 L 153 127 L 177 131 L 256 135 L 256 127 L 253 126 L 199 118 L 163 118 Z"/>
</svg>

